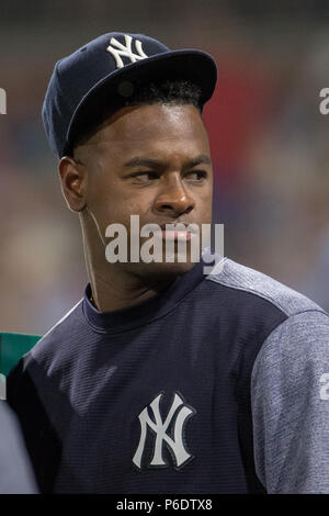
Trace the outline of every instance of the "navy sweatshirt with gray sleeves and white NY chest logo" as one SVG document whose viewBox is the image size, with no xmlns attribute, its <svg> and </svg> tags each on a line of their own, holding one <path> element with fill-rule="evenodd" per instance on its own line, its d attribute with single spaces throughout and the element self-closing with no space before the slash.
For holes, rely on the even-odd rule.
<svg viewBox="0 0 329 516">
<path fill-rule="evenodd" d="M 101 313 L 84 298 L 8 378 L 42 492 L 329 493 L 329 317 L 201 260 Z"/>
</svg>

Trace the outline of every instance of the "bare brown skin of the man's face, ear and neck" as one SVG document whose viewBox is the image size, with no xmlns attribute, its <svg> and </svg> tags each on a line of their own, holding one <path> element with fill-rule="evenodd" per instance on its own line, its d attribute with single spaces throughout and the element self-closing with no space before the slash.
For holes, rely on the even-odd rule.
<svg viewBox="0 0 329 516">
<path fill-rule="evenodd" d="M 121 223 L 129 235 L 131 214 L 139 215 L 140 227 L 211 223 L 213 169 L 207 133 L 195 106 L 123 108 L 77 146 L 73 157 L 61 158 L 59 175 L 68 206 L 80 215 L 98 310 L 135 305 L 194 266 L 189 253 L 184 263 L 110 263 L 100 233 L 104 240 L 107 225 Z"/>
</svg>

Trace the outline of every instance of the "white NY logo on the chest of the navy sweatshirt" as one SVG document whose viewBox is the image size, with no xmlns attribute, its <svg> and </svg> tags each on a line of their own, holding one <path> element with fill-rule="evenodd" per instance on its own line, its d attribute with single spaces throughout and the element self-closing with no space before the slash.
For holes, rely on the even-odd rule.
<svg viewBox="0 0 329 516">
<path fill-rule="evenodd" d="M 138 416 L 140 423 L 140 439 L 136 453 L 134 455 L 133 462 L 139 469 L 141 469 L 141 457 L 144 452 L 148 427 L 156 435 L 154 456 L 149 465 L 169 465 L 162 457 L 163 444 L 171 452 L 171 456 L 175 462 L 174 465 L 177 468 L 181 468 L 192 457 L 191 453 L 189 453 L 184 447 L 183 430 L 188 417 L 194 414 L 194 411 L 191 407 L 184 405 L 183 400 L 179 396 L 179 394 L 175 393 L 169 413 L 163 423 L 159 408 L 161 397 L 162 394 L 159 394 L 149 404 L 155 420 L 150 418 L 147 406 L 140 412 Z M 173 420 L 173 431 L 171 437 L 167 434 L 167 430 L 170 423 L 172 423 Z"/>
</svg>

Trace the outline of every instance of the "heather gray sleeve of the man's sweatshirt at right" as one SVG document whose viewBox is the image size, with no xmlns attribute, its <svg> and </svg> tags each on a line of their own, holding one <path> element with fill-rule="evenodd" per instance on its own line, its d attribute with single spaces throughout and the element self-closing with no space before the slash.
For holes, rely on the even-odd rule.
<svg viewBox="0 0 329 516">
<path fill-rule="evenodd" d="M 290 316 L 252 369 L 257 474 L 268 493 L 329 493 L 329 316 Z"/>
</svg>

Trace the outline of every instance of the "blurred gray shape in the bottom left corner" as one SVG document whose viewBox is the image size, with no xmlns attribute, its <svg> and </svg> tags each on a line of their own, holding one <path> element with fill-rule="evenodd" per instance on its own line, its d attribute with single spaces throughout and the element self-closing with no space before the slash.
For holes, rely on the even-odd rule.
<svg viewBox="0 0 329 516">
<path fill-rule="evenodd" d="M 36 481 L 14 413 L 0 401 L 0 494 L 35 494 Z"/>
</svg>

